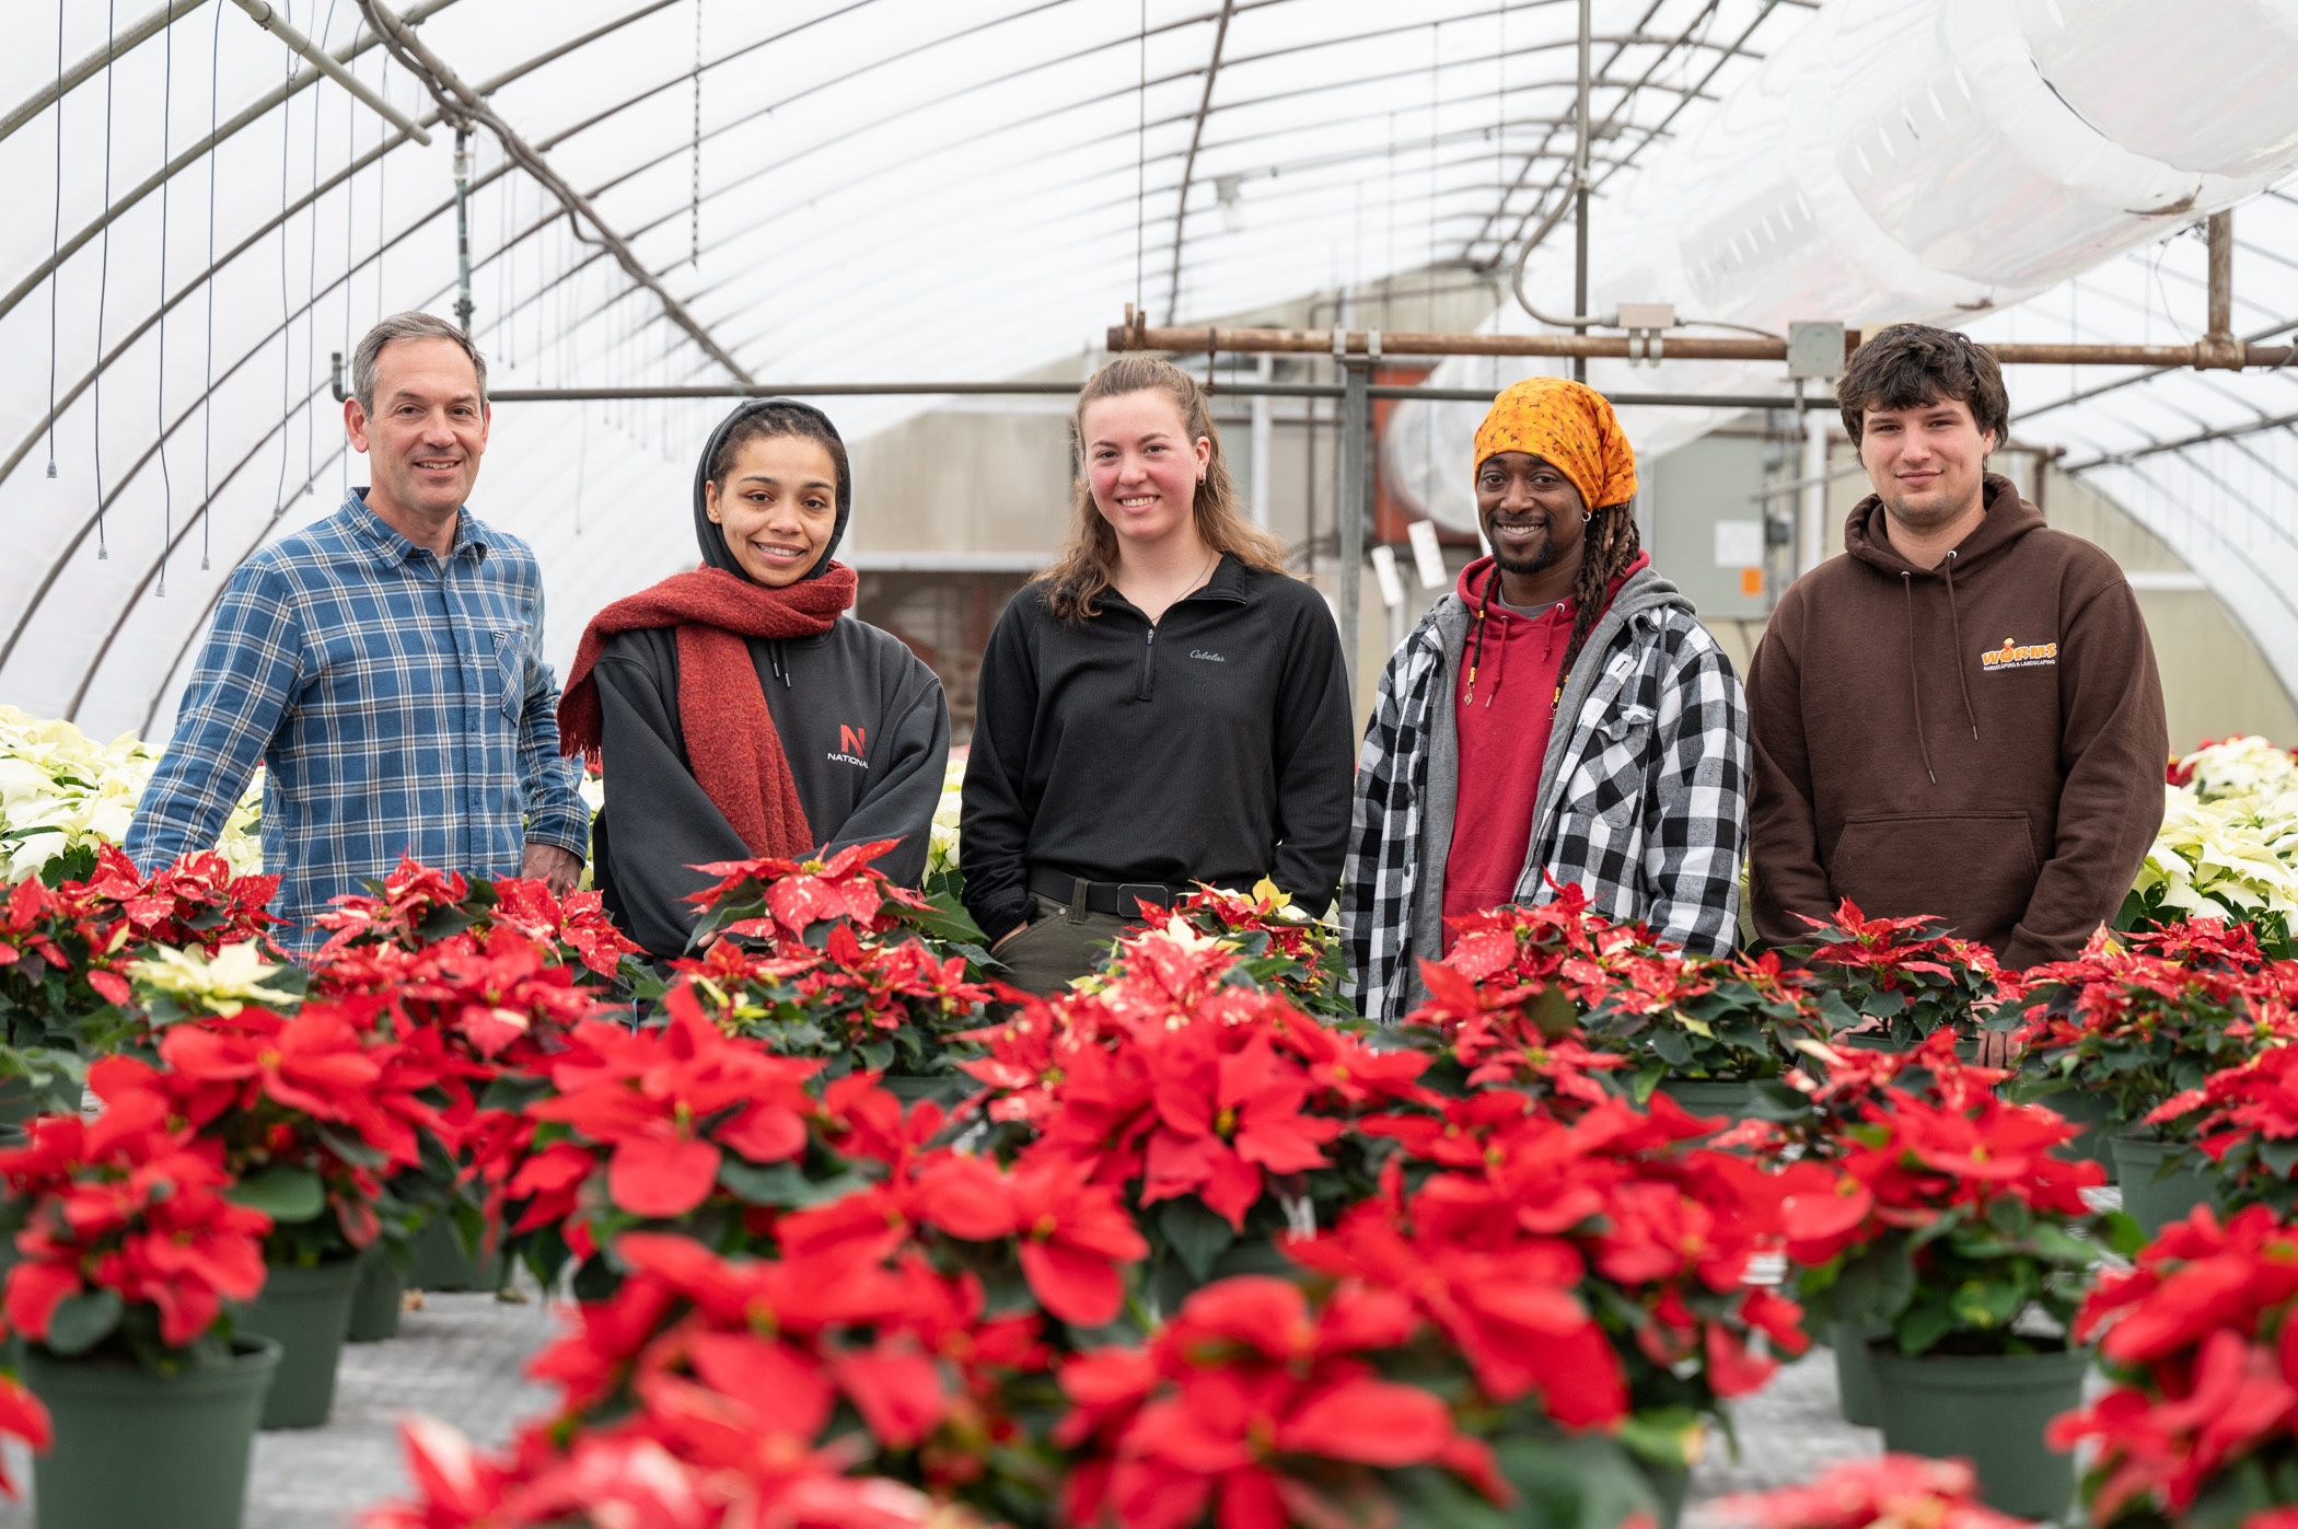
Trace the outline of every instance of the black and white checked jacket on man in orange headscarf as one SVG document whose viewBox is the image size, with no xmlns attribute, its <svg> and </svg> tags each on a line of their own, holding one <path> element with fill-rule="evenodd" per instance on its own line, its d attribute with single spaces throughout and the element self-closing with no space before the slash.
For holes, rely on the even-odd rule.
<svg viewBox="0 0 2298 1529">
<path fill-rule="evenodd" d="M 1418 959 L 1441 950 L 1459 773 L 1450 676 L 1466 630 L 1459 596 L 1413 628 L 1381 674 L 1358 759 L 1340 920 L 1351 998 L 1383 1023 L 1411 1009 Z M 1740 676 L 1648 568 L 1620 586 L 1588 653 L 1602 660 L 1576 662 L 1558 704 L 1517 901 L 1547 897 L 1544 871 L 1606 917 L 1728 952 L 1751 782 Z"/>
</svg>

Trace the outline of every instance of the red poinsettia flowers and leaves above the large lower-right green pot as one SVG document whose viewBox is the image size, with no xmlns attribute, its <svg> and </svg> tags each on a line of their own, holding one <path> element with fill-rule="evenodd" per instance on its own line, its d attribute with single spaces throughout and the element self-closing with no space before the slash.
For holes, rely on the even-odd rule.
<svg viewBox="0 0 2298 1529">
<path fill-rule="evenodd" d="M 1804 1301 L 1903 1354 L 2066 1347 L 2103 1248 L 2135 1248 L 2137 1225 L 2084 1200 L 2105 1168 L 2059 1157 L 2075 1127 L 1999 1099 L 2008 1074 L 1958 1062 L 1953 1032 L 1910 1062 L 1861 1099 L 1836 1161 L 1781 1175 Z"/>
</svg>

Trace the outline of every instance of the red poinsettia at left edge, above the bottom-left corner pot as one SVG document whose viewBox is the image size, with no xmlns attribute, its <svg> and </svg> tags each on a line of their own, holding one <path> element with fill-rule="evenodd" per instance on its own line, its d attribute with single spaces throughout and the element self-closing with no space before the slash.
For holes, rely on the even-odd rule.
<svg viewBox="0 0 2298 1529">
<path fill-rule="evenodd" d="M 175 1375 L 228 1363 L 225 1301 L 262 1290 L 271 1219 L 232 1198 L 223 1143 L 175 1115 L 149 1071 L 97 1062 L 94 1120 L 41 1115 L 0 1152 L 18 1253 L 7 1327 L 57 1357 Z"/>
</svg>

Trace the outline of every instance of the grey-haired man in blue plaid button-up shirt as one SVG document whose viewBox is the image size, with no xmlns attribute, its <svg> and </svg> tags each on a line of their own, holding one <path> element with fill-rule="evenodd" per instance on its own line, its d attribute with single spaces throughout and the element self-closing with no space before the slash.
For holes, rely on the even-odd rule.
<svg viewBox="0 0 2298 1529">
<path fill-rule="evenodd" d="M 352 379 L 342 418 L 372 485 L 232 573 L 126 842 L 147 871 L 211 848 L 267 766 L 264 869 L 294 950 L 400 855 L 563 894 L 591 846 L 558 756 L 542 570 L 464 508 L 485 359 L 462 329 L 400 313 L 358 343 Z"/>
</svg>

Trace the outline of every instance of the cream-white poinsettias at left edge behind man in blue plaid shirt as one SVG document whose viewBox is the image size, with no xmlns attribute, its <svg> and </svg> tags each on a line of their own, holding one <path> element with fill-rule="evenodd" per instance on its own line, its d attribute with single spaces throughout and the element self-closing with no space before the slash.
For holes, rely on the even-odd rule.
<svg viewBox="0 0 2298 1529">
<path fill-rule="evenodd" d="M 0 706 L 0 878 L 39 876 L 76 848 L 119 844 L 159 750 L 122 733 L 97 743 L 71 722 Z M 216 844 L 246 876 L 262 871 L 262 777 L 232 809 Z"/>
</svg>

